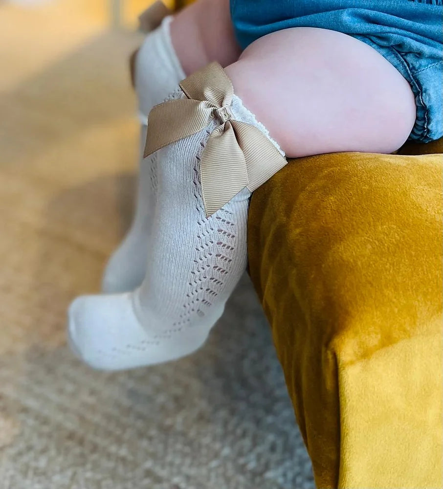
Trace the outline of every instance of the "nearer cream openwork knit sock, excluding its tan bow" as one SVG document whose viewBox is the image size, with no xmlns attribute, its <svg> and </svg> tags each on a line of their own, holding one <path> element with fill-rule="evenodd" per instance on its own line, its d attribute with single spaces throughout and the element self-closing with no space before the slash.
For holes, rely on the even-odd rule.
<svg viewBox="0 0 443 489">
<path fill-rule="evenodd" d="M 181 90 L 173 98 L 184 98 Z M 268 135 L 234 96 L 233 118 Z M 131 293 L 77 298 L 69 337 L 90 366 L 128 369 L 173 360 L 203 344 L 246 267 L 250 192 L 206 218 L 199 178 L 210 124 L 157 151 L 157 200 L 142 285 Z"/>
</svg>

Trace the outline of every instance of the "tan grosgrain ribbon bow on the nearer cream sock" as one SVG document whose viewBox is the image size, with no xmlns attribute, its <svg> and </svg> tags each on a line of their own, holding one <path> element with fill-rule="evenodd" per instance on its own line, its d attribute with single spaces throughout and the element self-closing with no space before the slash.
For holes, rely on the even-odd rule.
<svg viewBox="0 0 443 489">
<path fill-rule="evenodd" d="M 187 98 L 157 105 L 149 114 L 144 156 L 198 133 L 211 119 L 217 126 L 201 155 L 200 181 L 206 217 L 244 187 L 253 191 L 286 165 L 286 159 L 255 126 L 232 119 L 234 89 L 218 63 L 180 83 Z"/>
</svg>

